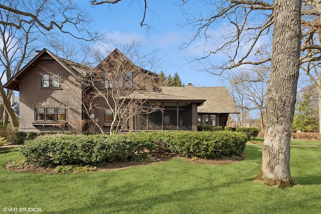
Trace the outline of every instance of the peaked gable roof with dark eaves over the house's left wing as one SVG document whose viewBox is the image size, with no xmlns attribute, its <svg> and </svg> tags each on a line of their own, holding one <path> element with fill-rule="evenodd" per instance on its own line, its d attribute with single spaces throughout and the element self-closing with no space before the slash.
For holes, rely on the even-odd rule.
<svg viewBox="0 0 321 214">
<path fill-rule="evenodd" d="M 4 87 L 19 91 L 21 76 L 24 75 L 24 73 L 28 70 L 30 66 L 35 67 L 37 65 L 37 62 L 41 59 L 54 59 L 73 76 L 78 76 L 79 73 L 84 71 L 86 67 L 84 65 L 80 65 L 78 63 L 59 58 L 58 56 L 44 48 L 27 65 L 25 65 L 20 71 L 18 71 L 16 75 L 9 79 L 8 82 L 4 84 Z"/>
</svg>

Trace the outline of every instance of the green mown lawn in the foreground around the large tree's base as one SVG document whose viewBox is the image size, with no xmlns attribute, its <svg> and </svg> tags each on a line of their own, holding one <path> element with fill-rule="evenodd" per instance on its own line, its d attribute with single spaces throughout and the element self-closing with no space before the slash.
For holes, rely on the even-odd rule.
<svg viewBox="0 0 321 214">
<path fill-rule="evenodd" d="M 40 207 L 42 213 L 319 213 L 321 147 L 292 147 L 296 183 L 278 189 L 251 181 L 260 145 L 241 162 L 213 166 L 182 159 L 104 172 L 10 172 L 0 154 L 0 206 Z M 1 210 L 1 209 L 0 209 Z"/>
</svg>

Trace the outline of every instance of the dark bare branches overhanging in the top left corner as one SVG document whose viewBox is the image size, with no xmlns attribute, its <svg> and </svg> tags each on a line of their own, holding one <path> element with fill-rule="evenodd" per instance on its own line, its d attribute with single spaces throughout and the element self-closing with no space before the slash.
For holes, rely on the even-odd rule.
<svg viewBox="0 0 321 214">
<path fill-rule="evenodd" d="M 13 5 L 12 2 L 19 4 Z M 26 24 L 33 23 L 39 30 L 57 30 L 76 39 L 92 41 L 98 36 L 92 33 L 89 25 L 92 20 L 88 13 L 79 9 L 77 2 L 72 0 L 4 0 L 0 4 L 0 10 L 18 19 L 0 20 L 0 25 L 3 26 L 21 29 Z"/>
</svg>

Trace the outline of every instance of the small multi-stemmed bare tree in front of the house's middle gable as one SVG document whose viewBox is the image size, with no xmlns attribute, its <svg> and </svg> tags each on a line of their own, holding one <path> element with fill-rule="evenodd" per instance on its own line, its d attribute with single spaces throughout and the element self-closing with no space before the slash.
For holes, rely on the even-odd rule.
<svg viewBox="0 0 321 214">
<path fill-rule="evenodd" d="M 158 87 L 158 76 L 149 71 L 155 66 L 158 51 L 143 53 L 141 48 L 139 42 L 132 41 L 123 45 L 122 51 L 111 51 L 103 45 L 87 49 L 87 55 L 96 63 L 83 65 L 85 71 L 77 78 L 83 90 L 77 97 L 82 101 L 87 121 L 101 133 L 104 133 L 106 121 L 109 134 L 114 134 L 121 132 L 123 125 L 137 114 L 162 111 L 158 103 L 147 104 L 148 94 Z M 62 82 L 71 87 L 77 84 L 67 80 Z M 103 121 L 92 115 L 95 109 L 106 111 Z"/>
</svg>

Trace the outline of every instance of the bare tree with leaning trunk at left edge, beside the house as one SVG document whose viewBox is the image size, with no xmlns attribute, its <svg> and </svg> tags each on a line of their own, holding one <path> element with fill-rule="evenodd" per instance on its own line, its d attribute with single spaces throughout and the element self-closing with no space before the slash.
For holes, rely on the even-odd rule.
<svg viewBox="0 0 321 214">
<path fill-rule="evenodd" d="M 19 5 L 18 1 L 12 1 L 10 6 L 16 8 Z M 18 22 L 19 16 L 0 10 L 0 21 L 2 22 Z M 0 67 L 3 68 L 3 73 L 1 75 L 1 80 L 10 79 L 15 75 L 22 67 L 24 60 L 31 57 L 31 52 L 33 51 L 33 46 L 31 45 L 40 32 L 35 27 L 34 22 L 28 24 L 22 24 L 20 29 L 14 26 L 0 25 Z M 4 78 L 5 77 L 5 78 Z M 12 95 L 12 90 L 7 90 L 3 88 L 3 84 L 0 85 L 0 95 L 2 98 L 2 104 L 0 106 L 0 117 L 4 115 L 4 110 L 6 111 L 6 116 L 8 115 L 13 128 L 19 127 L 16 115 L 11 108 L 10 98 Z M 1 119 L 2 120 L 2 119 Z M 8 118 L 5 117 L 4 125 L 8 123 Z"/>
</svg>

